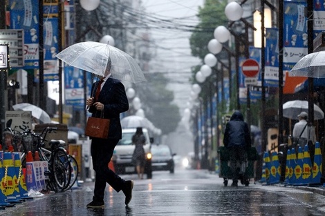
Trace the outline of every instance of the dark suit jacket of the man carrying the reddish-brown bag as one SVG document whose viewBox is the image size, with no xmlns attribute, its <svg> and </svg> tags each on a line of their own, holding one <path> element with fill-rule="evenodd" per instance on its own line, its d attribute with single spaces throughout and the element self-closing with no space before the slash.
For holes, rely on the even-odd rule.
<svg viewBox="0 0 325 216">
<path fill-rule="evenodd" d="M 93 84 L 91 92 L 94 92 L 94 89 L 96 90 L 97 84 L 98 81 Z M 92 113 L 91 117 L 103 115 L 104 119 L 110 119 L 108 139 L 121 139 L 120 113 L 129 110 L 129 101 L 123 84 L 118 79 L 109 77 L 100 91 L 98 101 L 104 104 L 104 110 L 99 111 L 96 110 L 95 106 L 91 106 L 89 108 L 89 112 Z"/>
</svg>

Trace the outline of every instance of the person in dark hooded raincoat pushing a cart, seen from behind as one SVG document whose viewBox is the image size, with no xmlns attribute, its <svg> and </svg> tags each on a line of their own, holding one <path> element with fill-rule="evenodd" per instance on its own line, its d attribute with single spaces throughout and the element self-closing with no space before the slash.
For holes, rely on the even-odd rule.
<svg viewBox="0 0 325 216">
<path fill-rule="evenodd" d="M 232 186 L 238 186 L 238 179 L 248 181 L 245 170 L 248 166 L 247 149 L 251 147 L 250 130 L 243 121 L 243 115 L 236 110 L 225 126 L 223 145 L 230 153 L 230 168 L 232 170 Z M 248 185 L 248 184 L 245 184 Z"/>
</svg>

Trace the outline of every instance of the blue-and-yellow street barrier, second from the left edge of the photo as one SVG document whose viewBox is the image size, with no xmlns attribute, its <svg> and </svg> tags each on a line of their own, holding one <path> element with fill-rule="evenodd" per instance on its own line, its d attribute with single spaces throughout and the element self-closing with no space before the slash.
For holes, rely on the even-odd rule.
<svg viewBox="0 0 325 216">
<path fill-rule="evenodd" d="M 5 195 L 10 203 L 21 203 L 19 186 L 17 184 L 17 175 L 12 159 L 12 153 L 3 153 L 3 166 L 5 168 L 5 179 L 3 181 L 5 188 Z"/>
</svg>

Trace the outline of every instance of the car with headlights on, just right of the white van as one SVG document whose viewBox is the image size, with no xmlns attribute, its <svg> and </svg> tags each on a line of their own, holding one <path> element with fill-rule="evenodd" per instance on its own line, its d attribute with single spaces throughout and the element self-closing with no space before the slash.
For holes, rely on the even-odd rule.
<svg viewBox="0 0 325 216">
<path fill-rule="evenodd" d="M 169 170 L 174 173 L 174 159 L 176 153 L 171 153 L 171 149 L 167 145 L 151 146 L 151 166 L 152 170 Z"/>
</svg>

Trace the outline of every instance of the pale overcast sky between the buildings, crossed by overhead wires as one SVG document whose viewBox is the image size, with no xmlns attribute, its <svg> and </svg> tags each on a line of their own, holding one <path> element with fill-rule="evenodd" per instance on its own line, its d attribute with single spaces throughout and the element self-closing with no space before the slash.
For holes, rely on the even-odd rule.
<svg viewBox="0 0 325 216">
<path fill-rule="evenodd" d="M 154 72 L 163 72 L 165 77 L 171 79 L 168 88 L 174 91 L 174 102 L 183 116 L 192 90 L 190 68 L 201 62 L 191 55 L 189 37 L 192 32 L 185 26 L 196 26 L 198 6 L 203 6 L 203 0 L 143 0 L 142 6 L 147 15 L 157 21 L 150 24 L 153 27 L 151 39 L 157 47 L 157 55 L 151 61 L 151 66 Z"/>
</svg>

